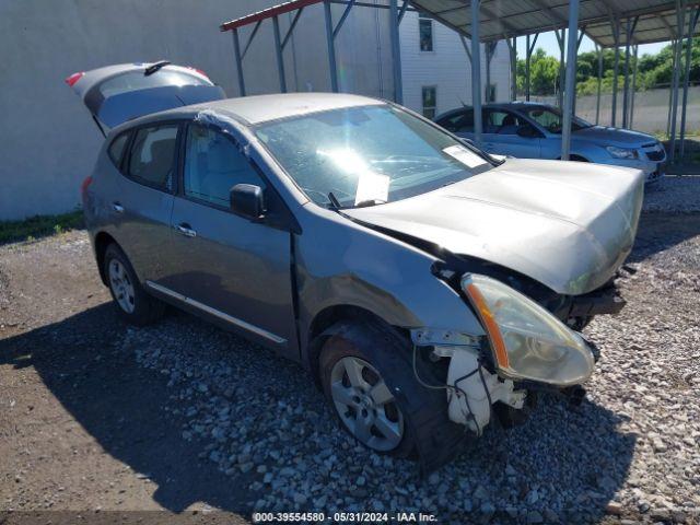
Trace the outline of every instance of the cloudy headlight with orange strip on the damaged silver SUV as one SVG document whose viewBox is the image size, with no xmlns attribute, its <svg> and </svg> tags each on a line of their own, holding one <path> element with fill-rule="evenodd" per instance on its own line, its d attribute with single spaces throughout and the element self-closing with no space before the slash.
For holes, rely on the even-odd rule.
<svg viewBox="0 0 700 525">
<path fill-rule="evenodd" d="M 593 373 L 593 354 L 581 336 L 539 304 L 475 273 L 465 273 L 462 289 L 486 328 L 501 375 L 569 386 Z"/>
</svg>

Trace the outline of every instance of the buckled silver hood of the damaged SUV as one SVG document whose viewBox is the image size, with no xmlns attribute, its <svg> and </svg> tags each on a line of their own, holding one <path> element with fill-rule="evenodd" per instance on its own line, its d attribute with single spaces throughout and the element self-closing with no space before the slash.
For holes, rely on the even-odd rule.
<svg viewBox="0 0 700 525">
<path fill-rule="evenodd" d="M 509 159 L 434 191 L 343 213 L 576 295 L 605 284 L 632 249 L 643 180 L 626 167 Z"/>
</svg>

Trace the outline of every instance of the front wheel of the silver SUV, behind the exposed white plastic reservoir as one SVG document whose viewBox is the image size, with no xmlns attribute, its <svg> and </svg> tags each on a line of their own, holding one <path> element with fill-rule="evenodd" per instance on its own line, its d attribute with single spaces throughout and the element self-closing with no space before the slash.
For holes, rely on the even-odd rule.
<svg viewBox="0 0 700 525">
<path fill-rule="evenodd" d="M 417 380 L 410 341 L 373 319 L 340 323 L 326 334 L 331 335 L 320 350 L 319 376 L 341 427 L 378 454 L 418 458 L 423 472 L 452 459 L 465 429 L 447 417 L 445 390 Z M 422 381 L 440 385 L 421 358 L 417 369 Z M 353 424 L 362 418 L 364 425 Z M 386 435 L 397 430 L 400 436 Z"/>
</svg>

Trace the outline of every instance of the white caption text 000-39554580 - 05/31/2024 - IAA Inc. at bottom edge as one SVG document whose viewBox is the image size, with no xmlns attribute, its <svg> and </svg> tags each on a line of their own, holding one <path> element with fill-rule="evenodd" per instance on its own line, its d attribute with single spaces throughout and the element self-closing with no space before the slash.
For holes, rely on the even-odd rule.
<svg viewBox="0 0 700 525">
<path fill-rule="evenodd" d="M 254 523 L 300 522 L 300 523 L 430 523 L 436 522 L 434 514 L 422 512 L 254 512 Z"/>
</svg>

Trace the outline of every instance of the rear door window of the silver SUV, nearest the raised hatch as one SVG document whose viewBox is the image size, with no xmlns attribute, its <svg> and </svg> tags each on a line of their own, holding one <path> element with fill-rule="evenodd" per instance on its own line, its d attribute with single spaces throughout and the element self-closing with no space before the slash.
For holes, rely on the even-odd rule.
<svg viewBox="0 0 700 525">
<path fill-rule="evenodd" d="M 176 124 L 141 128 L 129 154 L 129 177 L 156 189 L 173 191 Z"/>
</svg>

